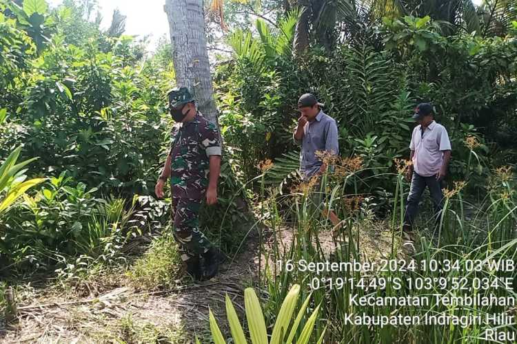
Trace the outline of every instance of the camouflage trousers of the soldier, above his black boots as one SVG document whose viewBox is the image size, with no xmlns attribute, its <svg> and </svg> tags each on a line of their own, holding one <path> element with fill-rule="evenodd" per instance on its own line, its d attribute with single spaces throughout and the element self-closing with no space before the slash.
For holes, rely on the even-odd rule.
<svg viewBox="0 0 517 344">
<path fill-rule="evenodd" d="M 201 202 L 203 201 L 191 198 L 172 197 L 170 217 L 182 261 L 199 257 L 211 246 L 210 241 L 199 231 Z"/>
</svg>

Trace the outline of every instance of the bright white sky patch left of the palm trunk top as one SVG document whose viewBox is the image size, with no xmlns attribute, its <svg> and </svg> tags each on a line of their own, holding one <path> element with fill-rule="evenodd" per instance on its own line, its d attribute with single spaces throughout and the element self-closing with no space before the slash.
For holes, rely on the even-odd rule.
<svg viewBox="0 0 517 344">
<path fill-rule="evenodd" d="M 50 6 L 56 7 L 61 0 L 48 0 Z M 110 27 L 113 10 L 119 8 L 125 19 L 125 34 L 150 37 L 150 48 L 163 35 L 169 34 L 167 14 L 163 12 L 165 0 L 99 0 L 99 10 L 102 16 L 101 28 Z"/>
</svg>

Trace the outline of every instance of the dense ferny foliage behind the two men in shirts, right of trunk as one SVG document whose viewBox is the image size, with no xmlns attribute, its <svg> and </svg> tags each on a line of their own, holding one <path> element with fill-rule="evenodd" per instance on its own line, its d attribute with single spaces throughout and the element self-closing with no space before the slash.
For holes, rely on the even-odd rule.
<svg viewBox="0 0 517 344">
<path fill-rule="evenodd" d="M 316 94 L 338 122 L 341 155 L 361 155 L 373 177 L 392 172 L 394 158 L 409 155 L 410 116 L 423 101 L 434 104 L 436 120 L 451 136 L 452 179 L 484 178 L 487 166 L 516 162 L 515 28 L 504 37 L 445 36 L 429 17 L 385 18 L 354 41 L 334 50 L 314 44 L 298 58 L 270 38 L 292 41 L 294 30 L 276 30 L 259 19 L 259 34 L 232 34 L 234 58 L 217 70 L 222 131 L 238 150 L 245 179 L 260 160 L 296 150 L 296 100 L 305 92 Z M 467 166 L 469 136 L 479 145 L 477 163 Z M 494 151 L 501 153 L 489 154 Z M 390 190 L 393 182 L 372 178 L 365 191 Z"/>
</svg>

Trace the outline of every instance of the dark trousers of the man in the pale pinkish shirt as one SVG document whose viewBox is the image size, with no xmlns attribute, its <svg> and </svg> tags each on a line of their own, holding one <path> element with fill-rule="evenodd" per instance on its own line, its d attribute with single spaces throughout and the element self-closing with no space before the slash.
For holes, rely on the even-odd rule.
<svg viewBox="0 0 517 344">
<path fill-rule="evenodd" d="M 429 188 L 431 198 L 434 206 L 434 217 L 438 221 L 443 208 L 443 192 L 441 180 L 436 180 L 436 175 L 431 177 L 423 177 L 418 173 L 413 172 L 413 178 L 411 180 L 411 189 L 409 189 L 409 195 L 407 196 L 406 213 L 404 217 L 405 227 L 413 227 L 416 214 L 418 213 L 418 204 L 422 199 L 422 194 L 425 191 L 425 187 Z"/>
</svg>

